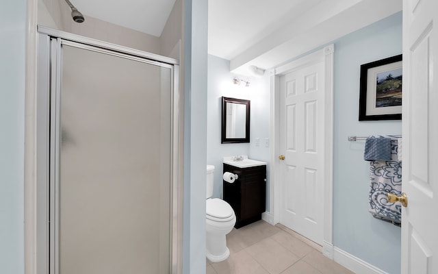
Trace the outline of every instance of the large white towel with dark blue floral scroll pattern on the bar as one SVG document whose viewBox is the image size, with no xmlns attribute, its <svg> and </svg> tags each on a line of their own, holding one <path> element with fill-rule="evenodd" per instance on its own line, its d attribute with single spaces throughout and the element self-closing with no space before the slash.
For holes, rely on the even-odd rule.
<svg viewBox="0 0 438 274">
<path fill-rule="evenodd" d="M 397 140 L 391 140 L 391 160 L 370 162 L 370 202 L 368 210 L 377 219 L 401 224 L 402 206 L 389 203 L 387 192 L 400 195 L 402 192 L 402 164 L 398 162 Z"/>
</svg>

